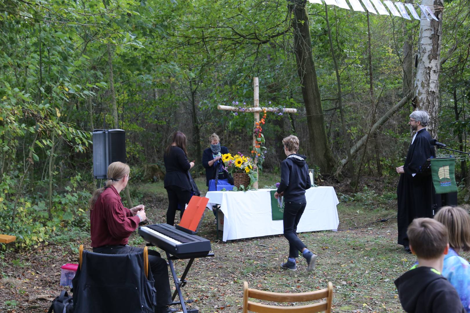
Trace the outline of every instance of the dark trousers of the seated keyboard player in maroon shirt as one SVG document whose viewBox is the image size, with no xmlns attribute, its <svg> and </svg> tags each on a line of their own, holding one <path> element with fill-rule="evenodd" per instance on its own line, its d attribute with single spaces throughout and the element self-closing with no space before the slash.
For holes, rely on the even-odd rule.
<svg viewBox="0 0 470 313">
<path fill-rule="evenodd" d="M 142 248 L 131 247 L 129 245 L 104 245 L 102 247 L 93 248 L 93 252 L 105 254 L 126 254 L 131 252 L 142 252 L 143 250 L 144 249 Z M 166 261 L 160 258 L 160 253 L 149 249 L 149 265 L 150 271 L 155 279 L 157 308 L 170 305 L 173 301 Z"/>
</svg>

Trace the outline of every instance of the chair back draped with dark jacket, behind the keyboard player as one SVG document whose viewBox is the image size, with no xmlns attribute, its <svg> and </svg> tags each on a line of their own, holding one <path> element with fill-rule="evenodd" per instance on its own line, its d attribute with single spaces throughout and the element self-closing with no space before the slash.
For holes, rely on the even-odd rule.
<svg viewBox="0 0 470 313">
<path fill-rule="evenodd" d="M 105 254 L 80 245 L 79 267 L 72 280 L 75 313 L 154 312 L 155 281 L 148 264 L 147 249 Z"/>
</svg>

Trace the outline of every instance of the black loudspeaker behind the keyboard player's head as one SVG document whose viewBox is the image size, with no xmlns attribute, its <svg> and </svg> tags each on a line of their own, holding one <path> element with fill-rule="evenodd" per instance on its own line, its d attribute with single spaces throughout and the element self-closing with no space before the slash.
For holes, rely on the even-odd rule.
<svg viewBox="0 0 470 313">
<path fill-rule="evenodd" d="M 106 179 L 112 162 L 125 163 L 125 130 L 93 130 L 93 176 Z"/>
</svg>

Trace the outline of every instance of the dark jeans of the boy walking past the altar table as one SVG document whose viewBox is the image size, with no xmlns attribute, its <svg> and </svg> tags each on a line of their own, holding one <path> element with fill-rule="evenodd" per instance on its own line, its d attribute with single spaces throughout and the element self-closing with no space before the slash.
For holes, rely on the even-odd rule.
<svg viewBox="0 0 470 313">
<path fill-rule="evenodd" d="M 284 237 L 289 240 L 289 258 L 298 258 L 298 252 L 306 248 L 297 237 L 297 225 L 306 205 L 305 199 L 284 203 Z"/>
</svg>

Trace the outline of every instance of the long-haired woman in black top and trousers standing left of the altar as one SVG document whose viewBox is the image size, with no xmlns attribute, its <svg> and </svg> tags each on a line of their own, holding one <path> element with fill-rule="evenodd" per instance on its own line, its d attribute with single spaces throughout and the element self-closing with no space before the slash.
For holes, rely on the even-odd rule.
<svg viewBox="0 0 470 313">
<path fill-rule="evenodd" d="M 194 166 L 194 162 L 188 161 L 185 134 L 180 131 L 174 133 L 172 144 L 166 148 L 163 160 L 166 169 L 164 187 L 168 193 L 166 223 L 173 225 L 178 204 L 181 208 L 181 218 L 185 206 L 191 199 L 191 183 L 188 170 Z"/>
</svg>

